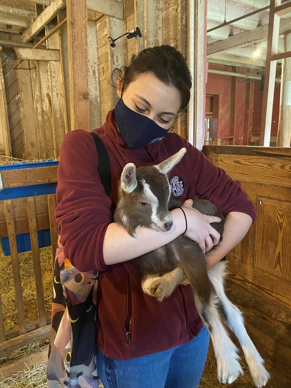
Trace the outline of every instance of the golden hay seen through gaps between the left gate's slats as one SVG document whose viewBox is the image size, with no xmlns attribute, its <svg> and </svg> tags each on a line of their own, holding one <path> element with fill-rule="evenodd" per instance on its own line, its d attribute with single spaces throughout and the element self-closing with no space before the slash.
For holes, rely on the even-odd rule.
<svg viewBox="0 0 291 388">
<path fill-rule="evenodd" d="M 19 253 L 19 268 L 23 289 L 24 310 L 26 322 L 38 319 L 35 291 L 35 277 L 31 251 Z M 40 263 L 42 267 L 43 293 L 45 308 L 50 316 L 52 308 L 53 258 L 52 247 L 40 248 Z M 0 250 L 0 296 L 4 317 L 5 330 L 18 326 L 15 288 L 12 275 L 10 256 L 5 256 Z"/>
</svg>

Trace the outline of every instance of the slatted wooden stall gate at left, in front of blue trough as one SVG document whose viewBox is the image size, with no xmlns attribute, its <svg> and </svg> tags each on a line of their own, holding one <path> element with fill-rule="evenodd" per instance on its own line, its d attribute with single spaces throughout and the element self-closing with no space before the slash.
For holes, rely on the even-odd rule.
<svg viewBox="0 0 291 388">
<path fill-rule="evenodd" d="M 1 178 L 3 189 L 57 182 L 57 166 L 1 171 Z M 5 331 L 0 299 L 0 357 L 49 336 L 50 316 L 45 311 L 37 231 L 50 229 L 54 259 L 57 247 L 55 206 L 55 194 L 0 201 L 0 237 L 9 237 L 18 315 L 18 327 Z M 38 307 L 38 320 L 34 322 L 26 322 L 25 317 L 16 244 L 16 236 L 21 233 L 30 234 Z"/>
</svg>

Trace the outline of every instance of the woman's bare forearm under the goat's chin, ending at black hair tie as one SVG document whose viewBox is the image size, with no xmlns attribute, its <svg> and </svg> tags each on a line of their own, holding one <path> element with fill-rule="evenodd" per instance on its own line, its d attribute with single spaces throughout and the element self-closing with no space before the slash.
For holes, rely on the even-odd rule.
<svg viewBox="0 0 291 388">
<path fill-rule="evenodd" d="M 118 222 L 108 225 L 103 242 L 104 262 L 107 265 L 126 262 L 173 241 L 185 230 L 185 219 L 181 210 L 171 212 L 173 226 L 168 232 L 157 232 L 138 226 L 136 236 L 130 236 Z"/>
</svg>

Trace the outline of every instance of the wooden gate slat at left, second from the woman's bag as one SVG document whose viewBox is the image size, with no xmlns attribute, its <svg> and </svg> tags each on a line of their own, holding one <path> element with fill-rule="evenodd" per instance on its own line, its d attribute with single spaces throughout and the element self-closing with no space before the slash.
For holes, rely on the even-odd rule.
<svg viewBox="0 0 291 388">
<path fill-rule="evenodd" d="M 26 198 L 26 203 L 27 203 L 29 234 L 30 234 L 30 242 L 31 242 L 31 253 L 32 253 L 32 260 L 33 260 L 33 270 L 35 274 L 38 320 L 39 320 L 40 327 L 42 327 L 47 324 L 47 320 L 45 317 L 46 313 L 45 313 L 45 301 L 44 301 L 43 284 L 42 284 L 42 268 L 40 266 L 40 251 L 38 246 L 34 198 L 33 197 Z"/>
</svg>

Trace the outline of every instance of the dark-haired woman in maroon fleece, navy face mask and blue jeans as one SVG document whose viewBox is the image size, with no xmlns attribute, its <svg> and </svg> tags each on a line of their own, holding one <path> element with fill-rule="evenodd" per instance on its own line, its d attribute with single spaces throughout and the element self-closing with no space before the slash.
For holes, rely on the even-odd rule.
<svg viewBox="0 0 291 388">
<path fill-rule="evenodd" d="M 208 199 L 226 217 L 223 241 L 208 254 L 209 268 L 241 241 L 255 219 L 239 182 L 169 132 L 187 107 L 191 86 L 185 57 L 166 45 L 143 50 L 119 73 L 120 100 L 104 125 L 94 130 L 109 154 L 110 198 L 100 182 L 90 133 L 69 132 L 61 146 L 55 217 L 65 257 L 80 271 L 99 269 L 97 370 L 105 388 L 198 387 L 209 343 L 191 286 L 178 286 L 161 303 L 142 292 L 139 273 L 129 260 L 182 234 L 185 217 L 173 210 L 170 231 L 137 227 L 134 238 L 112 222 L 126 163 L 155 165 L 186 147 L 169 180 L 172 197 L 185 199 L 187 237 L 204 252 L 220 238 L 210 225 L 220 219 L 192 209 L 187 199 Z"/>
</svg>

